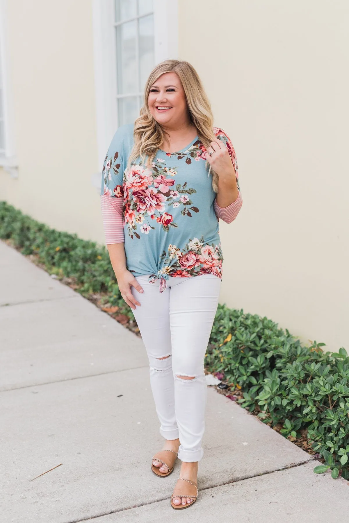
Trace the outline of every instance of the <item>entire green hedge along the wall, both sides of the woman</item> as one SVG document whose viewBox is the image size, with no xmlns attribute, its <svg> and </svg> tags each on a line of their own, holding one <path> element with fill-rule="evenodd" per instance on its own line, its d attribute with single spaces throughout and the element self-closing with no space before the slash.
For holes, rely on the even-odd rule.
<svg viewBox="0 0 349 523">
<path fill-rule="evenodd" d="M 50 274 L 69 278 L 85 297 L 128 316 L 104 246 L 58 232 L 0 202 L 0 238 L 31 255 Z M 291 440 L 307 430 L 312 448 L 332 477 L 349 479 L 349 358 L 344 348 L 324 352 L 324 344 L 303 346 L 272 320 L 219 305 L 205 366 L 219 373 L 227 391 L 240 391 L 241 405 Z M 241 396 L 240 393 L 240 396 Z"/>
</svg>

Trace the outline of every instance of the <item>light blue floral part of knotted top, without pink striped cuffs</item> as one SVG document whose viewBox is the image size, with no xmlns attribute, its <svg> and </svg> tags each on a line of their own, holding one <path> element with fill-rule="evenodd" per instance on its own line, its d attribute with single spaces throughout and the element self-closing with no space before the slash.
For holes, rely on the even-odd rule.
<svg viewBox="0 0 349 523">
<path fill-rule="evenodd" d="M 214 131 L 228 147 L 240 191 L 231 141 L 221 129 Z M 101 191 L 111 203 L 122 198 L 127 269 L 134 276 L 149 275 L 149 281 L 159 282 L 160 292 L 169 276 L 221 278 L 216 193 L 204 145 L 196 137 L 181 151 L 158 150 L 151 168 L 140 158 L 127 168 L 132 147 L 133 126 L 120 127 L 105 157 Z"/>
</svg>

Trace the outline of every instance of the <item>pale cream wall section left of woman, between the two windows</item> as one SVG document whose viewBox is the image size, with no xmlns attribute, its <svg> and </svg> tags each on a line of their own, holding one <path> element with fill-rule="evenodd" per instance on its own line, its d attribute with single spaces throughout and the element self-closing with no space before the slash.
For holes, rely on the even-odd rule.
<svg viewBox="0 0 349 523">
<path fill-rule="evenodd" d="M 103 241 L 97 161 L 92 4 L 7 2 L 18 179 L 0 172 L 0 199 L 33 218 Z"/>
</svg>

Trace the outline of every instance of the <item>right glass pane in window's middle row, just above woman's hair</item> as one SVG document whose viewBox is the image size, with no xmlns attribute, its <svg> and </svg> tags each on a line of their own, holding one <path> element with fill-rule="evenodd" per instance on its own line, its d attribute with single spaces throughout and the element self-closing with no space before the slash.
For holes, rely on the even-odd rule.
<svg viewBox="0 0 349 523">
<path fill-rule="evenodd" d="M 149 73 L 154 67 L 154 20 L 153 15 L 139 19 L 139 73 L 140 90 L 143 90 Z"/>
</svg>

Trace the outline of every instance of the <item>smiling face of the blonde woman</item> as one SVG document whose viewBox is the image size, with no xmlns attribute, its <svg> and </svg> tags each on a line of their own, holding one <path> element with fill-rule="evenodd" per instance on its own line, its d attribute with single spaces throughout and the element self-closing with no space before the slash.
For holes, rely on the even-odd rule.
<svg viewBox="0 0 349 523">
<path fill-rule="evenodd" d="M 150 87 L 149 110 L 164 127 L 177 127 L 189 120 L 187 101 L 176 73 L 162 74 Z"/>
</svg>

